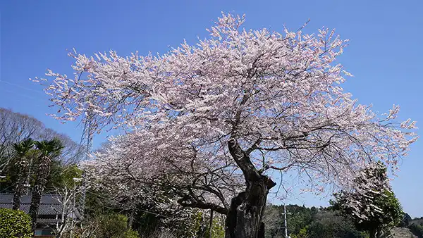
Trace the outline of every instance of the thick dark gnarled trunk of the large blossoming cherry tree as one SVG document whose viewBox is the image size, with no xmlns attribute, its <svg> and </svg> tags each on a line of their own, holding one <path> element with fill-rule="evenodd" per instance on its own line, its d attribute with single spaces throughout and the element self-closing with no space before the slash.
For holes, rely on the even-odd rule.
<svg viewBox="0 0 423 238">
<path fill-rule="evenodd" d="M 250 161 L 248 151 L 243 151 L 235 139 L 228 142 L 229 151 L 243 170 L 246 189 L 231 201 L 226 218 L 226 238 L 264 238 L 262 218 L 269 189 L 276 185 L 262 175 Z"/>
</svg>

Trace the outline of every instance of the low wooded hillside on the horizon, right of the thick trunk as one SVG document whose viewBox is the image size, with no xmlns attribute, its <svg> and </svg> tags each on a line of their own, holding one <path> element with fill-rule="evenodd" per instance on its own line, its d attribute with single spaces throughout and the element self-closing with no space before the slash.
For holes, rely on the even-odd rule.
<svg viewBox="0 0 423 238">
<path fill-rule="evenodd" d="M 291 238 L 369 237 L 367 232 L 358 230 L 351 220 L 341 216 L 333 207 L 307 208 L 290 204 L 286 206 L 286 211 L 288 234 Z M 266 231 L 266 238 L 285 237 L 283 205 L 269 204 L 264 222 L 271 227 Z M 397 227 L 391 230 L 394 238 L 409 238 L 410 234 L 423 237 L 423 218 L 411 218 L 405 213 L 403 221 Z"/>
</svg>

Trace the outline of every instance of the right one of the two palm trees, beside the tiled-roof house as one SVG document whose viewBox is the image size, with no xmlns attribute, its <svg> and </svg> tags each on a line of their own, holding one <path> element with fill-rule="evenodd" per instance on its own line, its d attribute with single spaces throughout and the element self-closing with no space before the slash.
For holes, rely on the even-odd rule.
<svg viewBox="0 0 423 238">
<path fill-rule="evenodd" d="M 39 168 L 37 177 L 35 179 L 34 189 L 32 189 L 32 199 L 30 206 L 30 216 L 32 218 L 32 231 L 37 227 L 37 216 L 39 203 L 41 201 L 42 193 L 47 184 L 49 177 L 51 162 L 53 158 L 61 154 L 63 149 L 62 143 L 59 139 L 51 139 L 49 141 L 43 140 L 35 142 L 35 146 L 39 151 Z"/>
</svg>

